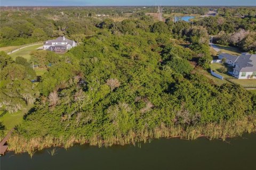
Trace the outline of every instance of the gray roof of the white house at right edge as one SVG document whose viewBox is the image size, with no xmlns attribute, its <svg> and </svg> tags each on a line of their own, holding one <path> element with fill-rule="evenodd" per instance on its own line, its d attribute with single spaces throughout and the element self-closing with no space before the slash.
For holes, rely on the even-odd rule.
<svg viewBox="0 0 256 170">
<path fill-rule="evenodd" d="M 238 57 L 236 67 L 234 69 L 242 72 L 256 72 L 256 55 L 243 53 Z"/>
</svg>

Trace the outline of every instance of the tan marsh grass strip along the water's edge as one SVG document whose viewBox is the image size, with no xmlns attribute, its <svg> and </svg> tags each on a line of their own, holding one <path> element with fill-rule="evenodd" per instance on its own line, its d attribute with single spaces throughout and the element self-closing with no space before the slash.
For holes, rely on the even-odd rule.
<svg viewBox="0 0 256 170">
<path fill-rule="evenodd" d="M 35 154 L 35 151 L 50 147 L 63 147 L 65 149 L 74 146 L 75 143 L 81 145 L 90 143 L 90 145 L 98 145 L 99 147 L 110 147 L 112 145 L 127 145 L 139 142 L 147 142 L 154 138 L 183 138 L 188 140 L 195 140 L 199 137 L 206 137 L 209 140 L 222 139 L 226 141 L 227 138 L 241 136 L 243 133 L 256 132 L 256 117 L 247 116 L 241 117 L 236 121 L 209 123 L 207 125 L 194 126 L 166 126 L 161 123 L 154 129 L 143 129 L 136 132 L 130 131 L 127 134 L 117 133 L 110 137 L 101 137 L 100 134 L 94 134 L 90 139 L 85 137 L 71 136 L 68 139 L 64 137 L 53 137 L 46 135 L 46 137 L 27 139 L 21 135 L 13 135 L 8 140 L 9 150 L 15 153 L 28 152 L 30 156 Z M 51 150 L 50 155 L 55 155 L 56 150 Z"/>
</svg>

